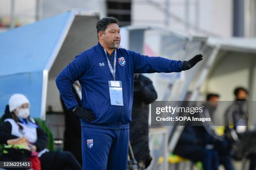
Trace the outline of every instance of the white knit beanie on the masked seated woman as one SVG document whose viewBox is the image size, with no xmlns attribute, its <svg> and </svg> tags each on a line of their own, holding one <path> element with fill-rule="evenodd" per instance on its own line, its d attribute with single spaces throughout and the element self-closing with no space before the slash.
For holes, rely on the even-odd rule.
<svg viewBox="0 0 256 170">
<path fill-rule="evenodd" d="M 23 94 L 13 94 L 9 99 L 9 110 L 12 112 L 17 107 L 20 107 L 24 103 L 29 103 L 28 98 Z"/>
</svg>

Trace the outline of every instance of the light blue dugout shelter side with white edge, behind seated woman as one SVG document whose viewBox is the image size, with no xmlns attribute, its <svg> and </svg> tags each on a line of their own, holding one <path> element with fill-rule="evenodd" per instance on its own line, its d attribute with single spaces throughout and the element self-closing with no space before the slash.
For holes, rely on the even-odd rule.
<svg viewBox="0 0 256 170">
<path fill-rule="evenodd" d="M 67 12 L 0 34 L 0 116 L 14 93 L 28 97 L 32 117 L 45 115 L 48 72 L 74 16 Z"/>
</svg>

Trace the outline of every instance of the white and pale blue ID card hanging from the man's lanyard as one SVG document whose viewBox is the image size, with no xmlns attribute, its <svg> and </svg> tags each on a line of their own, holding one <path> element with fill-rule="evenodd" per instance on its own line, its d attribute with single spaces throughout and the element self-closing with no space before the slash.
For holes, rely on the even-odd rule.
<svg viewBox="0 0 256 170">
<path fill-rule="evenodd" d="M 111 105 L 123 106 L 123 88 L 121 81 L 108 81 Z"/>
</svg>

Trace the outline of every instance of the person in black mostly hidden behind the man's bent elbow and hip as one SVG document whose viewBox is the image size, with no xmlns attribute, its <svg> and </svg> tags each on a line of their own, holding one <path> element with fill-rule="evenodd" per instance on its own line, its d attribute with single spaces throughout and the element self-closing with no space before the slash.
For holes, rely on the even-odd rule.
<svg viewBox="0 0 256 170">
<path fill-rule="evenodd" d="M 72 86 L 76 100 L 81 106 L 81 86 L 79 82 L 74 82 Z M 64 101 L 61 98 L 61 105 L 65 115 L 65 131 L 64 131 L 64 148 L 63 150 L 71 152 L 74 157 L 82 165 L 82 138 L 81 138 L 81 125 L 79 117 L 75 116 L 71 110 L 68 110 Z"/>
</svg>

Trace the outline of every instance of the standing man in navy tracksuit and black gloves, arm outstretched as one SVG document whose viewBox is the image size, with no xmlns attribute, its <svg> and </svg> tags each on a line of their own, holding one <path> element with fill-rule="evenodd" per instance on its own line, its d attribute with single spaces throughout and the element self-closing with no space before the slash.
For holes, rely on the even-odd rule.
<svg viewBox="0 0 256 170">
<path fill-rule="evenodd" d="M 126 170 L 133 74 L 181 72 L 202 60 L 202 55 L 176 61 L 118 48 L 120 28 L 113 17 L 99 20 L 97 33 L 98 44 L 75 57 L 57 76 L 56 85 L 67 108 L 81 120 L 83 170 Z M 72 92 L 76 80 L 82 87 L 82 108 Z M 109 81 L 114 80 L 122 84 L 123 102 L 118 103 L 123 105 L 111 105 Z"/>
</svg>

